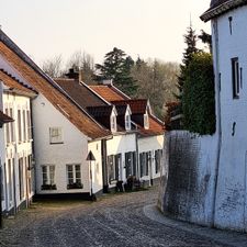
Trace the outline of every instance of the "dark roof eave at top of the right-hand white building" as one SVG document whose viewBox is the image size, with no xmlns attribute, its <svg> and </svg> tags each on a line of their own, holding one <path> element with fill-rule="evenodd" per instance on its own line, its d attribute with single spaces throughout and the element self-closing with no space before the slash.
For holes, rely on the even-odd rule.
<svg viewBox="0 0 247 247">
<path fill-rule="evenodd" d="M 232 9 L 235 9 L 244 4 L 247 4 L 247 0 L 229 0 L 227 2 L 222 3 L 221 5 L 209 9 L 200 16 L 200 19 L 204 22 L 207 22 L 211 19 L 214 19 Z"/>
</svg>

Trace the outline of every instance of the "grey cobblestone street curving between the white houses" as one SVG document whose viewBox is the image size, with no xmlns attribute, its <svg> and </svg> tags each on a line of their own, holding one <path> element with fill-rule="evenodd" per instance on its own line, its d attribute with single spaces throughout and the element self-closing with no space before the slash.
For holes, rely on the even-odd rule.
<svg viewBox="0 0 247 247">
<path fill-rule="evenodd" d="M 97 202 L 37 202 L 4 221 L 0 246 L 247 246 L 247 236 L 162 216 L 157 188 Z"/>
</svg>

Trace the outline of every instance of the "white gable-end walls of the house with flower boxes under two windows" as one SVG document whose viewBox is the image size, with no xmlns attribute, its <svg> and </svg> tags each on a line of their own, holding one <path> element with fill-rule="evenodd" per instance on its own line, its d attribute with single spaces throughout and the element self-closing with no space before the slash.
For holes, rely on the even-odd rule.
<svg viewBox="0 0 247 247">
<path fill-rule="evenodd" d="M 37 194 L 89 193 L 91 190 L 90 162 L 86 159 L 90 149 L 97 158 L 97 160 L 91 164 L 93 193 L 102 190 L 100 141 L 88 144 L 90 141 L 89 137 L 71 124 L 68 119 L 55 109 L 42 94 L 38 94 L 33 101 L 33 123 Z M 55 141 L 52 143 L 50 128 L 59 130 L 58 134 L 60 138 L 58 143 Z M 50 168 L 47 170 L 44 168 L 47 166 L 54 167 L 53 172 L 49 171 Z M 80 180 L 81 188 L 68 188 L 69 166 L 72 177 L 70 179 L 74 179 L 74 183 L 76 183 L 77 179 Z M 75 171 L 75 166 L 80 167 L 77 173 Z M 53 177 L 53 179 L 50 177 Z M 48 179 L 48 181 L 44 181 L 46 179 Z M 44 183 L 53 183 L 55 187 L 47 189 L 47 187 L 44 187 Z"/>
</svg>

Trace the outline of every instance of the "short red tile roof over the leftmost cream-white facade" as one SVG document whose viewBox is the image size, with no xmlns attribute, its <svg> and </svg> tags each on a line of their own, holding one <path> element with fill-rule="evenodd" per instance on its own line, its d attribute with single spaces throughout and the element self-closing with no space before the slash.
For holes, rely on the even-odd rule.
<svg viewBox="0 0 247 247">
<path fill-rule="evenodd" d="M 12 77 L 10 74 L 0 68 L 0 80 L 3 81 L 5 86 L 12 89 L 16 89 L 21 92 L 29 94 L 36 94 L 35 90 L 31 89 L 29 86 L 22 83 L 16 78 Z"/>
</svg>

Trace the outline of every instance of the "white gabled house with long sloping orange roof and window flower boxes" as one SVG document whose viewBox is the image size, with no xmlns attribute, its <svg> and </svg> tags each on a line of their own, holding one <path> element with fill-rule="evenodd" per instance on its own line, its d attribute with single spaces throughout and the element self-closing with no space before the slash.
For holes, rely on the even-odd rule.
<svg viewBox="0 0 247 247">
<path fill-rule="evenodd" d="M 101 192 L 101 145 L 111 133 L 72 101 L 2 31 L 0 66 L 37 92 L 32 100 L 36 194 L 76 194 L 81 198 L 88 197 L 91 191 Z M 24 105 L 20 108 L 26 113 L 30 104 Z M 23 113 L 20 115 L 22 117 Z M 23 136 L 24 132 L 21 135 Z M 23 145 L 29 144 L 31 145 L 24 142 Z M 86 160 L 89 150 L 96 157 L 91 164 Z M 24 160 L 30 155 L 29 151 L 23 153 L 21 147 L 18 151 L 23 154 Z M 8 155 L 11 160 L 12 153 Z"/>
</svg>

